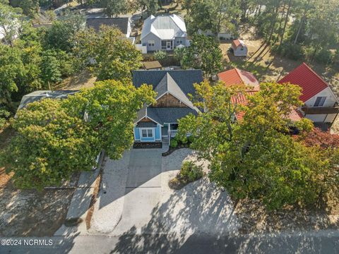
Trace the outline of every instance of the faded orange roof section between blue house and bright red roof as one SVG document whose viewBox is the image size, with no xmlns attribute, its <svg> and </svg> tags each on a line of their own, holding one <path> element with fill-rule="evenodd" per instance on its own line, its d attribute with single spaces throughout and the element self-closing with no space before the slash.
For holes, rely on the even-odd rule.
<svg viewBox="0 0 339 254">
<path fill-rule="evenodd" d="M 244 84 L 248 85 L 253 90 L 260 90 L 260 83 L 256 80 L 256 77 L 252 73 L 238 68 L 218 73 L 218 78 L 227 86 Z"/>
</svg>

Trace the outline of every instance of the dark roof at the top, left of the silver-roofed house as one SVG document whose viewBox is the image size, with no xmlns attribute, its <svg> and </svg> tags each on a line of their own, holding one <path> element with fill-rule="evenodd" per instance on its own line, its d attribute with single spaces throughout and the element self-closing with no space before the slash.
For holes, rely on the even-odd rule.
<svg viewBox="0 0 339 254">
<path fill-rule="evenodd" d="M 101 25 L 116 26 L 126 35 L 129 28 L 129 18 L 88 18 L 86 21 L 88 28 L 99 30 Z"/>
</svg>

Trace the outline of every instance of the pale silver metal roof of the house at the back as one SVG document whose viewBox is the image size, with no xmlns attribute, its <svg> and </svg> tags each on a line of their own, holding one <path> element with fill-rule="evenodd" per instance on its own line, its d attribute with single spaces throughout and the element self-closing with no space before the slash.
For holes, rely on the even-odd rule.
<svg viewBox="0 0 339 254">
<path fill-rule="evenodd" d="M 186 25 L 179 16 L 172 14 L 161 16 L 149 16 L 143 23 L 141 40 L 148 34 L 153 33 L 161 40 L 173 40 L 175 37 L 186 37 Z"/>
</svg>

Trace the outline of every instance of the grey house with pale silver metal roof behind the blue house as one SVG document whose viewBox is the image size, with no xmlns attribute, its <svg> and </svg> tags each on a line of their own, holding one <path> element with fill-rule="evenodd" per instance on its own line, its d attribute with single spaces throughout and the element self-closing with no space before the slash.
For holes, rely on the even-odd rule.
<svg viewBox="0 0 339 254">
<path fill-rule="evenodd" d="M 189 45 L 186 25 L 179 16 L 149 16 L 143 23 L 141 45 L 147 52 L 173 50 L 179 45 Z"/>
</svg>

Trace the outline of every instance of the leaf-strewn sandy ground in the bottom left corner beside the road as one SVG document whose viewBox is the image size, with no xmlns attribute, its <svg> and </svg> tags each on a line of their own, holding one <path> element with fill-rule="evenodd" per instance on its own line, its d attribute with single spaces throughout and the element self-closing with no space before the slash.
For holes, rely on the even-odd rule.
<svg viewBox="0 0 339 254">
<path fill-rule="evenodd" d="M 0 236 L 53 236 L 73 190 L 0 190 Z"/>
</svg>

